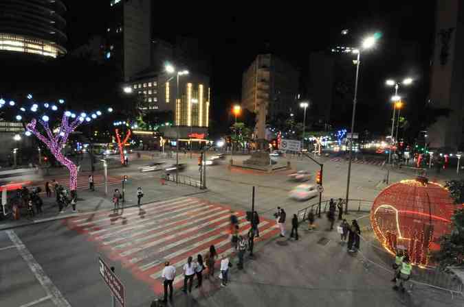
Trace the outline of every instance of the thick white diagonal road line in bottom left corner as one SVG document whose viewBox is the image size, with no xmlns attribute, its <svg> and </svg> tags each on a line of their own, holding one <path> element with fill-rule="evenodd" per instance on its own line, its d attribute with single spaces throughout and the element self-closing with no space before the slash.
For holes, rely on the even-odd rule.
<svg viewBox="0 0 464 307">
<path fill-rule="evenodd" d="M 49 277 L 45 275 L 45 271 L 43 271 L 41 265 L 39 265 L 38 262 L 34 259 L 34 256 L 32 256 L 29 249 L 25 247 L 25 245 L 23 244 L 23 241 L 21 241 L 19 236 L 16 235 L 14 230 L 7 230 L 6 234 L 8 234 L 8 237 L 10 238 L 12 243 L 16 245 L 19 251 L 19 254 L 24 259 L 24 261 L 27 263 L 32 273 L 34 273 L 38 282 L 41 283 L 41 285 L 45 289 L 45 292 L 47 293 L 47 295 L 50 296 L 50 299 L 52 299 L 55 306 L 71 307 L 69 302 L 67 302 L 67 300 L 63 296 L 63 294 L 61 294 L 58 288 L 56 288 L 52 280 L 50 280 Z"/>
</svg>

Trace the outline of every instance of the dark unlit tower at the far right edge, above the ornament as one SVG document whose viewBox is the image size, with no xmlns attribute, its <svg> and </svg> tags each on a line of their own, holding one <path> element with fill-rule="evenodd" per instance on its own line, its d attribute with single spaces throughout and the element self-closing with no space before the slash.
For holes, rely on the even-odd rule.
<svg viewBox="0 0 464 307">
<path fill-rule="evenodd" d="M 464 3 L 436 1 L 435 42 L 430 85 L 430 106 L 450 110 L 428 131 L 431 148 L 464 147 Z"/>
</svg>

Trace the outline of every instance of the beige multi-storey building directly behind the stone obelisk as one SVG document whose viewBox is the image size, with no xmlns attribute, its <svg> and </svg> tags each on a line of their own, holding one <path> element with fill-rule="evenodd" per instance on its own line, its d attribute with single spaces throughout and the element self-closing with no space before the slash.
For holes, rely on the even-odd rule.
<svg viewBox="0 0 464 307">
<path fill-rule="evenodd" d="M 255 137 L 265 138 L 266 121 L 295 107 L 299 73 L 272 54 L 260 54 L 242 76 L 242 108 L 257 113 Z"/>
</svg>

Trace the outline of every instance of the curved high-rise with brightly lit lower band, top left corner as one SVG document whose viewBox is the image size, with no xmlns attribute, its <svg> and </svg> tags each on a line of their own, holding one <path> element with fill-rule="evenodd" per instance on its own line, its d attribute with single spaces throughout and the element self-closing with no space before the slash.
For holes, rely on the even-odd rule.
<svg viewBox="0 0 464 307">
<path fill-rule="evenodd" d="M 60 0 L 0 0 L 0 53 L 64 55 L 65 12 Z"/>
</svg>

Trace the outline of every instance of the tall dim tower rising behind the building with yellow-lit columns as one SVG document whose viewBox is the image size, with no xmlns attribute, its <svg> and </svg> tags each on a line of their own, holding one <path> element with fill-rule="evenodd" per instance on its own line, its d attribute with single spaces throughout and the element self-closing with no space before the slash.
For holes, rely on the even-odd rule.
<svg viewBox="0 0 464 307">
<path fill-rule="evenodd" d="M 110 0 L 105 58 L 129 81 L 151 64 L 151 0 Z"/>
</svg>

